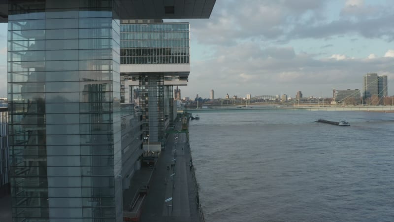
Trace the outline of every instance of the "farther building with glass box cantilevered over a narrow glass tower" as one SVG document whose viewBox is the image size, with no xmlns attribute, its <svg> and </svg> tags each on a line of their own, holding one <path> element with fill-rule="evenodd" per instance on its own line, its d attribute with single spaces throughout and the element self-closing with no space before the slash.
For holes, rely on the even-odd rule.
<svg viewBox="0 0 394 222">
<path fill-rule="evenodd" d="M 158 143 L 161 148 L 164 148 L 165 129 L 173 125 L 173 85 L 188 82 L 189 36 L 189 23 L 121 21 L 121 78 L 124 79 L 125 102 L 130 98 L 129 102 L 137 104 L 144 135 L 149 135 L 149 143 Z M 132 98 L 126 92 L 132 92 Z"/>
</svg>

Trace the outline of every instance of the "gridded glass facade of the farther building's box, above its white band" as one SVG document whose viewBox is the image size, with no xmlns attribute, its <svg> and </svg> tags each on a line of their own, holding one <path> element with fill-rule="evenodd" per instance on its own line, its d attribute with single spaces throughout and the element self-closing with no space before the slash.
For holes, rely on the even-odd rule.
<svg viewBox="0 0 394 222">
<path fill-rule="evenodd" d="M 121 25 L 121 64 L 190 63 L 189 23 Z"/>
</svg>

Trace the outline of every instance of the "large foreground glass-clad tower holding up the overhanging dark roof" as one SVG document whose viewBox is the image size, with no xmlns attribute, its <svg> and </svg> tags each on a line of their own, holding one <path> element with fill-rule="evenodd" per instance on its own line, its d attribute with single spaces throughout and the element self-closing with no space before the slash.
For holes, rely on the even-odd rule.
<svg viewBox="0 0 394 222">
<path fill-rule="evenodd" d="M 14 221 L 123 221 L 115 1 L 15 2 L 8 7 Z"/>
</svg>

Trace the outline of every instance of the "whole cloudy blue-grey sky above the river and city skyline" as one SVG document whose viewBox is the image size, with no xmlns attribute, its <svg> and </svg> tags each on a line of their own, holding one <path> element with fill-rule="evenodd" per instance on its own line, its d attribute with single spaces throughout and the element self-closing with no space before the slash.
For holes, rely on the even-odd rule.
<svg viewBox="0 0 394 222">
<path fill-rule="evenodd" d="M 331 97 L 388 75 L 394 95 L 393 0 L 217 0 L 190 22 L 191 73 L 182 97 L 288 94 Z M 172 20 L 173 21 L 173 20 Z M 7 24 L 0 24 L 0 97 L 6 96 Z"/>
</svg>

